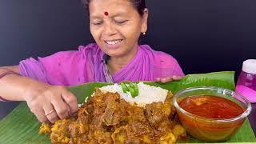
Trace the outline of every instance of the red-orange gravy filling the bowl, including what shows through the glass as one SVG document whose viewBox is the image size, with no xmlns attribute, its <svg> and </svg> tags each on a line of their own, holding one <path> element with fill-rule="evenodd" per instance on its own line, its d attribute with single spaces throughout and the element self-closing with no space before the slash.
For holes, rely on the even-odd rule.
<svg viewBox="0 0 256 144">
<path fill-rule="evenodd" d="M 238 117 L 244 110 L 237 103 L 214 95 L 194 95 L 182 99 L 179 106 L 194 114 L 185 114 L 178 110 L 182 126 L 194 138 L 204 141 L 224 141 L 230 138 L 244 121 L 244 118 L 229 121 L 229 118 Z M 226 121 L 219 121 L 220 118 L 226 118 Z"/>
</svg>

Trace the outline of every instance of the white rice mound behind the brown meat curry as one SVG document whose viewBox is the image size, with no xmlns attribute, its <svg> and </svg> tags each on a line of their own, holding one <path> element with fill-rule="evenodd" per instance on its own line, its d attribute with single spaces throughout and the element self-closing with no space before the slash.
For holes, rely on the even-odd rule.
<svg viewBox="0 0 256 144">
<path fill-rule="evenodd" d="M 152 102 L 164 102 L 167 96 L 168 90 L 162 89 L 161 87 L 149 86 L 143 82 L 138 83 L 138 96 L 133 98 L 130 92 L 124 93 L 122 91 L 122 86 L 118 84 L 103 86 L 99 88 L 103 93 L 106 92 L 117 92 L 121 98 L 125 99 L 126 102 L 131 104 L 137 104 L 138 106 L 146 106 Z M 94 96 L 94 94 L 92 94 Z"/>
</svg>

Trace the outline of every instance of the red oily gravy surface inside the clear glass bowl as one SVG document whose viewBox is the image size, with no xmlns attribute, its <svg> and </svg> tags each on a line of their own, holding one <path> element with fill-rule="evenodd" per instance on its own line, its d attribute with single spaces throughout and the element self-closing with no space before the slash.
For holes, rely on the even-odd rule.
<svg viewBox="0 0 256 144">
<path fill-rule="evenodd" d="M 235 118 L 244 110 L 238 104 L 212 95 L 198 95 L 179 102 L 183 110 L 205 118 Z"/>
</svg>

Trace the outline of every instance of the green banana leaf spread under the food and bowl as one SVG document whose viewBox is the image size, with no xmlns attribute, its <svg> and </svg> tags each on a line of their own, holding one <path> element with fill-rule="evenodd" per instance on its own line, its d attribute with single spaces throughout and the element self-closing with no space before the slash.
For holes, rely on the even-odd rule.
<svg viewBox="0 0 256 144">
<path fill-rule="evenodd" d="M 234 90 L 234 72 L 216 72 L 209 74 L 190 74 L 186 75 L 179 81 L 168 82 L 166 84 L 157 82 L 146 82 L 151 86 L 160 86 L 167 90 L 171 90 L 174 94 L 178 90 L 191 86 L 218 86 L 230 90 Z M 89 97 L 95 87 L 109 85 L 109 83 L 92 82 L 80 86 L 67 87 L 78 97 L 78 103 L 85 101 Z M 46 135 L 39 135 L 38 130 L 41 123 L 38 122 L 34 114 L 26 106 L 26 102 L 21 102 L 10 114 L 0 121 L 0 143 L 18 144 L 18 143 L 50 143 L 50 139 Z M 190 138 L 186 142 L 201 142 L 197 139 Z M 256 142 L 253 130 L 250 127 L 248 119 L 243 126 L 226 142 Z"/>
</svg>

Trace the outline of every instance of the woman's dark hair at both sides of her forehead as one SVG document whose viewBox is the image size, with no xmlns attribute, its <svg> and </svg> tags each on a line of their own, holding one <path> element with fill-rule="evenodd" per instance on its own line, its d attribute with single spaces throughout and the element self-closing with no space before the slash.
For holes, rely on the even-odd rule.
<svg viewBox="0 0 256 144">
<path fill-rule="evenodd" d="M 89 3 L 92 0 L 82 0 L 83 5 L 86 8 L 86 12 L 89 14 Z M 146 8 L 145 0 L 129 0 L 133 5 L 134 8 L 138 11 L 138 14 L 141 16 L 144 14 L 144 9 Z"/>
</svg>

